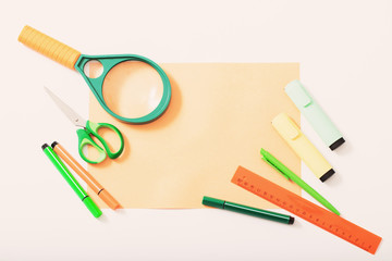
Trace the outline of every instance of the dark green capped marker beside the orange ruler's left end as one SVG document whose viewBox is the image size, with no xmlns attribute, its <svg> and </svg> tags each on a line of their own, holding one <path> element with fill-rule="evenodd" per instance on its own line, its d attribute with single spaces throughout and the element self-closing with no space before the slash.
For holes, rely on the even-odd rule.
<svg viewBox="0 0 392 261">
<path fill-rule="evenodd" d="M 233 203 L 221 199 L 210 198 L 210 197 L 204 197 L 203 198 L 203 204 L 217 208 L 217 209 L 224 209 L 234 211 L 242 214 L 253 215 L 256 217 L 262 217 L 270 221 L 275 221 L 284 224 L 293 224 L 294 217 L 285 214 L 280 214 L 272 211 L 261 210 L 252 208 L 244 204 Z"/>
</svg>

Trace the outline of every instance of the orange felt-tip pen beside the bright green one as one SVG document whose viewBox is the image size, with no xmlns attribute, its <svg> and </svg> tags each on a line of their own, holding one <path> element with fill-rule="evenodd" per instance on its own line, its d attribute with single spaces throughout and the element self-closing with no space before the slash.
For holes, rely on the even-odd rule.
<svg viewBox="0 0 392 261">
<path fill-rule="evenodd" d="M 51 147 L 54 152 L 71 166 L 74 172 L 87 183 L 95 194 L 106 202 L 109 208 L 115 210 L 120 208 L 120 203 L 89 174 L 77 161 L 57 141 L 52 142 Z"/>
</svg>

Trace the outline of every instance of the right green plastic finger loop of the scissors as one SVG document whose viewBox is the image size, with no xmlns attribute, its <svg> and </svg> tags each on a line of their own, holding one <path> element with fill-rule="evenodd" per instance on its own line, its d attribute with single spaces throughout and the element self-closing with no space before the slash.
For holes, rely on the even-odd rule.
<svg viewBox="0 0 392 261">
<path fill-rule="evenodd" d="M 113 152 L 110 150 L 107 141 L 103 139 L 103 137 L 101 137 L 98 134 L 98 129 L 100 129 L 100 128 L 109 128 L 118 135 L 118 137 L 120 138 L 120 148 L 118 151 Z M 90 132 L 102 144 L 102 146 L 110 159 L 117 159 L 121 156 L 121 153 L 124 150 L 124 138 L 123 138 L 122 134 L 120 133 L 120 130 L 115 126 L 113 126 L 109 123 L 94 123 L 94 122 L 87 121 L 86 129 L 88 132 Z"/>
</svg>

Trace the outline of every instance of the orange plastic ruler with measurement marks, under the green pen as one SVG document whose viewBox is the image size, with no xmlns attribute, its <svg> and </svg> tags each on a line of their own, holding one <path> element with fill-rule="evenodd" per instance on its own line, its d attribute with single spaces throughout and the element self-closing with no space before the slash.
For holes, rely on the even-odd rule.
<svg viewBox="0 0 392 261">
<path fill-rule="evenodd" d="M 381 237 L 238 166 L 232 183 L 375 254 Z"/>
</svg>

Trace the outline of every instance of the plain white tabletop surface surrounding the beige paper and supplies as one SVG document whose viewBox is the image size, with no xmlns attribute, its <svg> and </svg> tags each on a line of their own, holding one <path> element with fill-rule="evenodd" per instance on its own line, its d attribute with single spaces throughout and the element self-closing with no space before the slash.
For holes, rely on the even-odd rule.
<svg viewBox="0 0 392 261">
<path fill-rule="evenodd" d="M 391 260 L 391 8 L 390 1 L 2 1 L 0 260 Z M 303 177 L 344 217 L 382 236 L 378 252 L 299 219 L 287 226 L 219 210 L 106 210 L 95 220 L 40 149 L 59 140 L 76 154 L 77 144 L 42 86 L 84 116 L 88 87 L 17 42 L 25 24 L 87 54 L 299 62 L 303 83 L 347 140 L 331 152 L 303 120 L 336 171 L 324 185 L 306 167 Z"/>
</svg>

